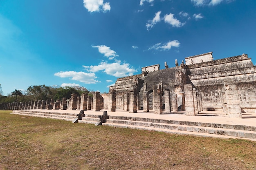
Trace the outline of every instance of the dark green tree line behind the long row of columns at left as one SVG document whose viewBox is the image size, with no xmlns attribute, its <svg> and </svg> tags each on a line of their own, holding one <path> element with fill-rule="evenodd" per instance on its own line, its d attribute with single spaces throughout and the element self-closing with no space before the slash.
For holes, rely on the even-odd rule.
<svg viewBox="0 0 256 170">
<path fill-rule="evenodd" d="M 0 84 L 0 103 L 12 103 L 12 102 L 27 102 L 31 100 L 47 100 L 54 99 L 54 101 L 58 99 L 62 99 L 66 97 L 67 99 L 71 97 L 72 93 L 77 94 L 77 96 L 81 96 L 82 93 L 86 93 L 89 96 L 93 96 L 93 91 L 89 91 L 85 87 L 82 86 L 29 86 L 26 91 L 20 91 L 15 89 L 13 92 L 8 94 L 7 96 L 3 95 L 2 87 Z"/>
</svg>

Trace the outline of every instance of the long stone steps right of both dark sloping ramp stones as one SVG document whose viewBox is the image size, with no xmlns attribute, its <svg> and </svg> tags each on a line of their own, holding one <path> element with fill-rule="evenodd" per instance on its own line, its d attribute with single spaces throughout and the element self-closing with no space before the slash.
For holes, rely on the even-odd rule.
<svg viewBox="0 0 256 170">
<path fill-rule="evenodd" d="M 109 116 L 104 126 L 155 130 L 197 137 L 238 138 L 256 141 L 256 126 L 213 124 L 192 121 L 175 121 L 140 117 Z"/>
</svg>

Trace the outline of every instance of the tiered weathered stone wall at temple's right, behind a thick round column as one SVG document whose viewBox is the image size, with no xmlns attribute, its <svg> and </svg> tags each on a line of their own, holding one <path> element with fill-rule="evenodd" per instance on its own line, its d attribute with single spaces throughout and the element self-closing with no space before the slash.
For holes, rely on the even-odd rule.
<svg viewBox="0 0 256 170">
<path fill-rule="evenodd" d="M 242 111 L 255 110 L 256 67 L 247 55 L 192 64 L 187 67 L 189 68 L 187 83 L 192 83 L 201 95 L 202 110 L 228 111 L 225 108 L 227 106 L 225 82 L 236 84 Z"/>
</svg>

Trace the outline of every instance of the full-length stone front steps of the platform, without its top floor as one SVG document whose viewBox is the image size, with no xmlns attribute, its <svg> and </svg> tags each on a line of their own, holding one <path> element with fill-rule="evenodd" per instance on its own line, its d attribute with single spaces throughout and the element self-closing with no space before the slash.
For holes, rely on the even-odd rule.
<svg viewBox="0 0 256 170">
<path fill-rule="evenodd" d="M 67 112 L 47 112 L 38 110 L 13 110 L 11 114 L 34 116 L 52 119 L 61 119 L 66 121 L 74 121 L 76 113 Z M 96 124 L 99 121 L 99 112 L 97 114 L 86 114 L 78 123 Z M 193 121 L 166 120 L 146 117 L 130 117 L 109 115 L 106 123 L 103 126 L 112 126 L 116 128 L 132 128 L 139 130 L 154 130 L 177 135 L 192 135 L 196 137 L 215 137 L 215 138 L 237 138 L 256 141 L 256 125 L 232 125 L 218 123 L 203 123 Z"/>
</svg>

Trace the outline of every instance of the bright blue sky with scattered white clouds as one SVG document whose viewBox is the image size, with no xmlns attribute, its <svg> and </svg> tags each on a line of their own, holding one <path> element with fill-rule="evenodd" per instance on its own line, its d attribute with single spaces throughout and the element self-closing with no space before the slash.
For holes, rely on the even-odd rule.
<svg viewBox="0 0 256 170">
<path fill-rule="evenodd" d="M 213 52 L 256 63 L 255 0 L 0 0 L 4 95 L 31 85 L 108 92 L 118 77 Z"/>
</svg>

